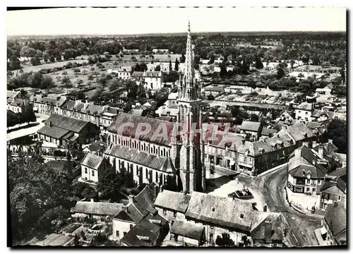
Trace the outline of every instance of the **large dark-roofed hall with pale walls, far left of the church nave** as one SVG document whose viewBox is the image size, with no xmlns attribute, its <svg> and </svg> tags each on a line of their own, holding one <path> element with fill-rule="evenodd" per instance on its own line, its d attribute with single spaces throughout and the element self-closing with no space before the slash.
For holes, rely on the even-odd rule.
<svg viewBox="0 0 353 254">
<path fill-rule="evenodd" d="M 52 114 L 40 128 L 38 138 L 55 145 L 65 145 L 66 141 L 87 144 L 99 139 L 100 130 L 93 123 Z"/>
</svg>

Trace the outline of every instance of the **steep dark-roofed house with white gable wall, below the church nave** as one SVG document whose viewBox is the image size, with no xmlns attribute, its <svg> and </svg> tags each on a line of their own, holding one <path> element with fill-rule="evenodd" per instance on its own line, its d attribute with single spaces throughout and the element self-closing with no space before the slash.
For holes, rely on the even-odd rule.
<svg viewBox="0 0 353 254">
<path fill-rule="evenodd" d="M 136 196 L 129 195 L 128 202 L 113 217 L 112 239 L 121 240 L 146 215 L 152 214 L 155 216 L 157 210 L 153 207 L 153 202 L 156 196 L 157 186 L 154 184 L 145 186 Z"/>
</svg>

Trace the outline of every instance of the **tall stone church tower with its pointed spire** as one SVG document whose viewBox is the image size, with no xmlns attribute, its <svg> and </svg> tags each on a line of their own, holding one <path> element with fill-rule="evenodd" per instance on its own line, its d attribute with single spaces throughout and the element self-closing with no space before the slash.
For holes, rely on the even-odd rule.
<svg viewBox="0 0 353 254">
<path fill-rule="evenodd" d="M 201 87 L 198 83 L 198 72 L 193 68 L 193 45 L 191 44 L 190 21 L 186 42 L 184 75 L 178 87 L 179 114 L 177 123 L 183 126 L 181 135 L 177 135 L 172 147 L 175 167 L 179 170 L 184 193 L 193 191 L 205 192 L 204 146 L 200 133 Z M 192 130 L 199 130 L 198 134 Z"/>
</svg>

